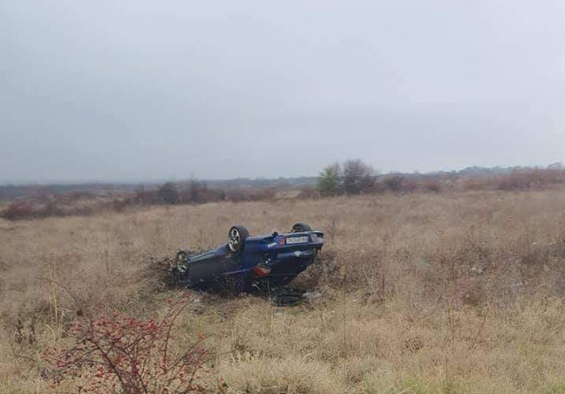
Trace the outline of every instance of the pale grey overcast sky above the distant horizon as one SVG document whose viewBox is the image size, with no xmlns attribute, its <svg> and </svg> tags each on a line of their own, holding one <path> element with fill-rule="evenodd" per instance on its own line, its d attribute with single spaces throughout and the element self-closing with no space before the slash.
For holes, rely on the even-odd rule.
<svg viewBox="0 0 565 394">
<path fill-rule="evenodd" d="M 0 183 L 565 161 L 565 1 L 0 0 Z"/>
</svg>

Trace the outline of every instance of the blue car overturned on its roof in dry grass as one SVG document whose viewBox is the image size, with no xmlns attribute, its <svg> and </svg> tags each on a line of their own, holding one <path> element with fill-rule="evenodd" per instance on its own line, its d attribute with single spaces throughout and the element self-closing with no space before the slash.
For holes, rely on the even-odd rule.
<svg viewBox="0 0 565 394">
<path fill-rule="evenodd" d="M 172 280 L 190 288 L 229 286 L 237 291 L 280 288 L 307 269 L 323 246 L 323 232 L 296 223 L 288 233 L 249 235 L 232 226 L 227 242 L 200 254 L 180 250 L 172 266 Z"/>
</svg>

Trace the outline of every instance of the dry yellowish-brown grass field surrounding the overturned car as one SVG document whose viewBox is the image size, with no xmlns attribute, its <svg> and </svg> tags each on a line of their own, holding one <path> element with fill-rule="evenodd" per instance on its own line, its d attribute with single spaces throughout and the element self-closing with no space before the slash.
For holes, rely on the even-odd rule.
<svg viewBox="0 0 565 394">
<path fill-rule="evenodd" d="M 42 352 L 77 312 L 162 313 L 180 290 L 153 259 L 224 242 L 232 223 L 266 233 L 297 221 L 326 232 L 293 283 L 321 297 L 276 307 L 197 294 L 179 321 L 181 342 L 204 336 L 228 393 L 565 393 L 563 190 L 0 221 L 0 393 L 49 391 Z"/>
</svg>

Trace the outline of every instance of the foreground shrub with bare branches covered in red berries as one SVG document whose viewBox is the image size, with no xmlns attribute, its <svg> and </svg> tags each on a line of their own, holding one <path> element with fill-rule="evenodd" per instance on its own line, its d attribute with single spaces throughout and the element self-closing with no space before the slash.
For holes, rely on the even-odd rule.
<svg viewBox="0 0 565 394">
<path fill-rule="evenodd" d="M 90 393 L 202 393 L 206 391 L 206 349 L 198 343 L 172 355 L 174 321 L 189 293 L 173 302 L 160 321 L 116 314 L 78 321 L 66 336 L 69 346 L 48 350 L 52 386 L 80 378 Z"/>
</svg>

